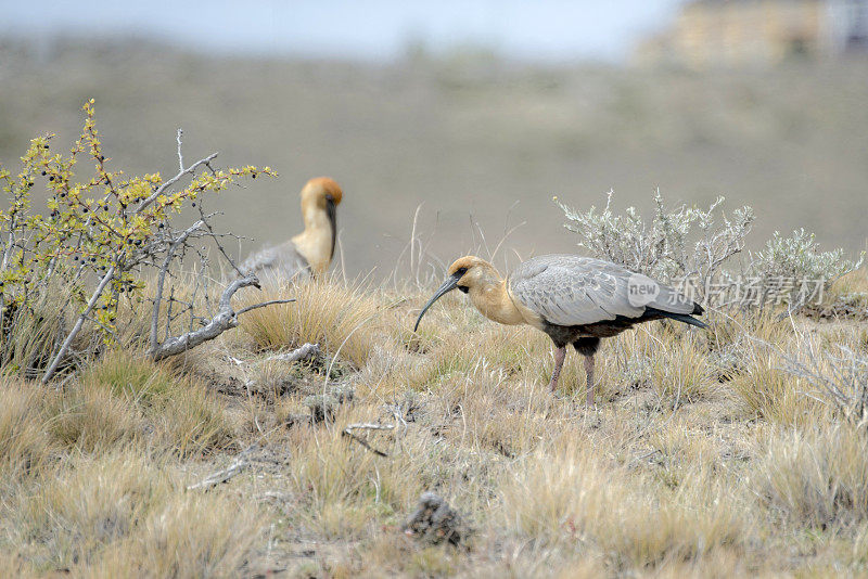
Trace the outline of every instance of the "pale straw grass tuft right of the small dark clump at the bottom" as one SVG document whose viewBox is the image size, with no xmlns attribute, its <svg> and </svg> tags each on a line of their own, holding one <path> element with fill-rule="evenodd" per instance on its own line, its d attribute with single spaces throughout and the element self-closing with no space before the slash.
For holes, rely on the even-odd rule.
<svg viewBox="0 0 868 579">
<path fill-rule="evenodd" d="M 739 510 L 707 480 L 671 491 L 567 445 L 519 463 L 505 483 L 507 525 L 535 541 L 605 557 L 615 568 L 694 561 L 745 538 Z M 653 497 L 653 499 L 651 499 Z"/>
</svg>

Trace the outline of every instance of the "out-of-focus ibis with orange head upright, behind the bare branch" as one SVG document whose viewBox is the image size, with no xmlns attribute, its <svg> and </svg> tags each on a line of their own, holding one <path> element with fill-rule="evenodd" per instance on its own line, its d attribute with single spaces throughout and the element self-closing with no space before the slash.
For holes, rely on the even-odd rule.
<svg viewBox="0 0 868 579">
<path fill-rule="evenodd" d="M 326 273 L 334 256 L 337 206 L 342 197 L 341 185 L 333 179 L 317 177 L 309 180 L 302 189 L 305 230 L 280 245 L 251 255 L 241 265 L 241 270 L 271 281 Z"/>
</svg>

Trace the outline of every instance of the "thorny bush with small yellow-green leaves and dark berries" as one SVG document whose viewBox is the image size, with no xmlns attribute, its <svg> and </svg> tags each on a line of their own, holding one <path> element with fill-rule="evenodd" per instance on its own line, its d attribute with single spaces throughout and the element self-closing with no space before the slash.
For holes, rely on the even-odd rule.
<svg viewBox="0 0 868 579">
<path fill-rule="evenodd" d="M 13 351 L 14 329 L 41 322 L 37 306 L 58 287 L 66 298 L 62 313 L 85 318 L 103 344 L 115 340 L 122 298 L 133 309 L 141 305 L 148 274 L 177 249 L 171 216 L 184 206 L 195 206 L 200 195 L 222 191 L 239 178 L 275 175 L 269 167 L 215 170 L 210 166 L 215 154 L 181 166 L 166 181 L 158 172 L 127 178 L 123 171 L 108 169 L 93 102 L 82 107 L 84 130 L 68 155 L 54 153 L 50 145 L 54 134 L 47 134 L 30 141 L 17 175 L 0 165 L 0 183 L 9 200 L 8 207 L 0 208 L 0 364 L 7 370 L 33 373 L 33 368 L 22 364 L 34 360 L 22 360 Z M 179 132 L 179 159 L 180 146 Z M 78 181 L 74 169 L 82 157 L 94 162 L 94 172 Z M 184 177 L 190 180 L 181 185 Z M 33 210 L 33 191 L 40 181 L 49 193 L 47 215 Z M 200 214 L 207 226 L 209 216 L 201 204 Z M 205 234 L 217 235 L 209 226 Z M 60 332 L 65 321 L 61 316 Z M 60 348 L 58 336 L 44 342 L 42 346 L 54 356 Z"/>
</svg>

